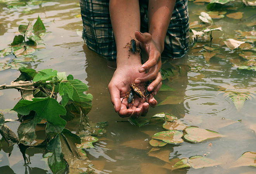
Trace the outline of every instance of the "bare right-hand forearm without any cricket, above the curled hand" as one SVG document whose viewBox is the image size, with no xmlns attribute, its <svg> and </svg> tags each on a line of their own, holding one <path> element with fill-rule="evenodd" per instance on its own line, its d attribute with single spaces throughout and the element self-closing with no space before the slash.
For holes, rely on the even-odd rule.
<svg viewBox="0 0 256 174">
<path fill-rule="evenodd" d="M 164 39 L 176 0 L 149 0 L 149 33 L 159 45 L 159 51 L 164 50 Z"/>
</svg>

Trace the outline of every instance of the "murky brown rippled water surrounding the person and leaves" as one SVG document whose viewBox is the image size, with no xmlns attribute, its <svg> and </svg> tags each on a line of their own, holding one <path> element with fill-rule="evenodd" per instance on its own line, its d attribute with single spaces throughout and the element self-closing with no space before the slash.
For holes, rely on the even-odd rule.
<svg viewBox="0 0 256 174">
<path fill-rule="evenodd" d="M 201 51 L 195 51 L 190 45 L 188 55 L 182 60 L 163 60 L 163 68 L 171 65 L 180 65 L 182 72 L 170 80 L 164 80 L 163 84 L 175 89 L 170 92 L 159 92 L 156 96 L 160 103 L 167 96 L 173 96 L 170 104 L 159 105 L 150 108 L 147 118 L 154 114 L 165 112 L 175 115 L 189 126 L 217 131 L 227 137 L 216 138 L 202 143 L 183 142 L 180 145 L 166 145 L 159 153 L 149 153 L 152 146 L 149 140 L 154 133 L 164 131 L 163 123 L 151 124 L 142 127 L 133 126 L 127 119 L 119 118 L 111 104 L 107 85 L 111 80 L 114 69 L 108 68 L 104 60 L 90 51 L 81 39 L 82 21 L 78 2 L 72 0 L 42 1 L 33 5 L 35 1 L 20 1 L 18 8 L 10 8 L 6 3 L 0 3 L 0 49 L 6 48 L 12 43 L 15 32 L 20 24 L 35 23 L 38 15 L 42 19 L 49 33 L 43 38 L 45 49 L 40 49 L 34 55 L 35 62 L 28 65 L 37 70 L 53 68 L 59 72 L 72 74 L 74 78 L 85 82 L 89 92 L 93 95 L 93 108 L 88 114 L 93 122 L 108 121 L 107 133 L 95 143 L 95 148 L 87 149 L 88 158 L 92 160 L 100 173 L 111 174 L 241 174 L 255 173 L 254 167 L 230 166 L 244 152 L 255 152 L 255 131 L 250 129 L 256 124 L 256 102 L 254 97 L 247 100 L 240 111 L 237 111 L 229 97 L 219 91 L 220 87 L 227 89 L 245 90 L 254 92 L 256 85 L 255 72 L 237 70 L 233 65 L 234 60 L 239 60 L 236 51 L 230 51 L 225 46 L 220 49 L 218 55 L 209 61 L 204 59 Z M 205 5 L 189 3 L 190 22 L 199 20 L 198 14 L 206 10 Z M 243 20 L 223 19 L 214 20 L 216 25 L 221 25 L 223 32 L 213 32 L 213 38 L 235 36 L 234 30 L 251 31 L 254 27 L 247 27 L 244 23 L 255 21 L 250 18 L 256 12 L 255 9 L 240 8 L 243 12 Z M 236 11 L 234 11 L 236 12 Z M 204 41 L 202 41 L 204 43 Z M 252 44 L 253 45 L 253 44 Z M 253 45 L 255 47 L 255 45 Z M 0 62 L 11 61 L 14 57 L 1 58 Z M 199 67 L 198 72 L 185 68 Z M 10 84 L 19 75 L 17 70 L 0 71 L 0 84 Z M 17 90 L 0 91 L 0 109 L 11 109 L 19 101 L 20 94 Z M 16 119 L 14 113 L 5 113 L 5 118 Z M 223 121 L 242 120 L 231 125 L 225 125 Z M 17 131 L 19 123 L 10 122 L 7 125 Z M 212 143 L 210 145 L 210 143 Z M 1 173 L 16 174 L 45 174 L 51 173 L 46 160 L 42 160 L 43 150 L 34 148 L 27 150 L 27 158 L 31 164 L 24 166 L 22 155 L 17 146 L 12 155 L 0 151 Z M 202 169 L 185 169 L 171 171 L 164 159 L 189 158 L 195 155 L 218 160 L 222 164 Z"/>
</svg>

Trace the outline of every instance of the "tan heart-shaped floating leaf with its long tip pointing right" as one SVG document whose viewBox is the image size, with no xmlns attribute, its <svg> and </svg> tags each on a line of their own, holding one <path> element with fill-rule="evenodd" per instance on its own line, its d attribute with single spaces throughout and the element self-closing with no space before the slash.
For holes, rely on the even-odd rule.
<svg viewBox="0 0 256 174">
<path fill-rule="evenodd" d="M 221 135 L 218 132 L 205 130 L 198 127 L 189 127 L 185 129 L 186 135 L 184 138 L 189 142 L 203 142 L 211 138 L 225 137 L 226 135 Z"/>
</svg>

